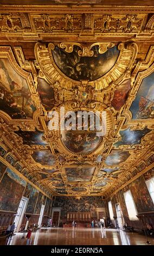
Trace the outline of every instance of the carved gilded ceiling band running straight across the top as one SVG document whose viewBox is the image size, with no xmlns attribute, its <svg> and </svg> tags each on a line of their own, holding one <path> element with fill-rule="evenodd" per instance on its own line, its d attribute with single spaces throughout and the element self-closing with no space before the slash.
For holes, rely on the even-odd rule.
<svg viewBox="0 0 154 256">
<path fill-rule="evenodd" d="M 75 41 L 96 41 L 116 36 L 142 41 L 153 35 L 148 17 L 153 14 L 152 6 L 24 5 L 21 13 L 22 8 L 23 5 L 1 5 L 1 40 L 49 41 L 52 34 L 55 41 L 60 37 L 66 41 L 72 37 Z"/>
</svg>

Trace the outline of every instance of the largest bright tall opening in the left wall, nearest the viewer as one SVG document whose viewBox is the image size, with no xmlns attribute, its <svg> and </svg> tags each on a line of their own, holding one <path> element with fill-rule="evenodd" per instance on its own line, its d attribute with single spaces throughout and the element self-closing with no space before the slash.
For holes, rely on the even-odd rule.
<svg viewBox="0 0 154 256">
<path fill-rule="evenodd" d="M 20 230 L 21 227 L 21 223 L 23 220 L 23 215 L 27 206 L 27 202 L 28 202 L 28 198 L 24 198 L 22 197 L 20 205 L 18 206 L 18 210 L 17 210 L 17 214 L 15 217 L 15 232 L 18 232 Z"/>
</svg>

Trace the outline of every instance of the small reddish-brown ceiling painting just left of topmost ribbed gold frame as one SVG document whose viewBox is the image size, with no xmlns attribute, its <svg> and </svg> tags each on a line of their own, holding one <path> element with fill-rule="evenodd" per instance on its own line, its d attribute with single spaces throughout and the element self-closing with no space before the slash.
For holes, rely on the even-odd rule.
<svg viewBox="0 0 154 256">
<path fill-rule="evenodd" d="M 43 107 L 47 111 L 50 111 L 55 104 L 53 88 L 44 79 L 39 78 L 37 89 L 39 91 Z"/>
</svg>

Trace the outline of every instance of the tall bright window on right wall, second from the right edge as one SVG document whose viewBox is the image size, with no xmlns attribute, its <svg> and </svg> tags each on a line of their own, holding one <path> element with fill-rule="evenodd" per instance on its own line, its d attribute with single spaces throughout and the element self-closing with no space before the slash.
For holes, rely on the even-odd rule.
<svg viewBox="0 0 154 256">
<path fill-rule="evenodd" d="M 132 194 L 131 194 L 130 190 L 124 193 L 124 198 L 125 198 L 125 203 L 126 203 L 126 207 L 127 207 L 127 212 L 130 217 L 130 221 L 138 220 L 138 218 L 136 216 L 137 215 L 136 207 L 134 205 Z"/>
</svg>

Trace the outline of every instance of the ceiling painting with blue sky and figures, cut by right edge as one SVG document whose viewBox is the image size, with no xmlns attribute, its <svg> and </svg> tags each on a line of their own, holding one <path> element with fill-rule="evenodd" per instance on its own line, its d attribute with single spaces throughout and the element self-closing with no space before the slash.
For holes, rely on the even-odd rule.
<svg viewBox="0 0 154 256">
<path fill-rule="evenodd" d="M 152 119 L 154 115 L 154 72 L 143 79 L 130 111 L 132 119 Z"/>
</svg>

